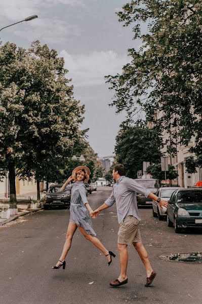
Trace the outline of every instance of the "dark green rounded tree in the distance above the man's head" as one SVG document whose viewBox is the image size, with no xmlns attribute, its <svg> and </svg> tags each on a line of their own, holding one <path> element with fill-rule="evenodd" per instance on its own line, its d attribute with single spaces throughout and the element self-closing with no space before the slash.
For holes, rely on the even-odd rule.
<svg viewBox="0 0 202 304">
<path fill-rule="evenodd" d="M 128 177 L 137 178 L 142 170 L 143 161 L 159 162 L 161 141 L 157 129 L 145 126 L 122 128 L 116 136 L 116 162 L 126 168 Z"/>
</svg>

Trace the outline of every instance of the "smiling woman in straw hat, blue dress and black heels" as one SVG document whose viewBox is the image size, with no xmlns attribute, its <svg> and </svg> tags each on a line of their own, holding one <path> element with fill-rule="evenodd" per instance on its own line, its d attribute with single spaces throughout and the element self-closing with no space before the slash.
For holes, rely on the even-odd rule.
<svg viewBox="0 0 202 304">
<path fill-rule="evenodd" d="M 90 174 L 91 172 L 87 166 L 78 166 L 72 171 L 72 176 L 66 180 L 60 189 L 61 192 L 71 191 L 70 219 L 62 254 L 57 264 L 52 267 L 53 269 L 59 269 L 61 266 L 65 269 L 65 257 L 71 247 L 71 241 L 77 227 L 87 240 L 91 241 L 93 245 L 105 254 L 108 266 L 111 263 L 111 256 L 115 257 L 115 254 L 108 251 L 95 237 L 96 233 L 93 230 L 92 221 L 88 214 L 89 211 L 91 215 L 93 210 L 87 201 L 84 182 L 88 182 Z M 74 181 L 74 183 L 70 184 L 71 181 Z"/>
</svg>

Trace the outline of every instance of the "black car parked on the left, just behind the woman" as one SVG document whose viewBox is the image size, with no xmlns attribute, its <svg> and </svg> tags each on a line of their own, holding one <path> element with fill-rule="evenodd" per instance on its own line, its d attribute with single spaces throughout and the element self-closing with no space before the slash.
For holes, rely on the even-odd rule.
<svg viewBox="0 0 202 304">
<path fill-rule="evenodd" d="M 45 195 L 44 209 L 50 209 L 53 207 L 66 207 L 69 208 L 71 193 L 60 192 L 62 184 L 50 185 Z"/>
</svg>

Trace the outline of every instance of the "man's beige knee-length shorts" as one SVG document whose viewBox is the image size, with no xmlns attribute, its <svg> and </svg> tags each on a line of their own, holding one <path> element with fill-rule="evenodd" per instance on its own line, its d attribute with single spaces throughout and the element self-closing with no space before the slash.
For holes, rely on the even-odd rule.
<svg viewBox="0 0 202 304">
<path fill-rule="evenodd" d="M 139 220 L 129 215 L 120 223 L 118 230 L 118 244 L 131 245 L 141 242 Z"/>
</svg>

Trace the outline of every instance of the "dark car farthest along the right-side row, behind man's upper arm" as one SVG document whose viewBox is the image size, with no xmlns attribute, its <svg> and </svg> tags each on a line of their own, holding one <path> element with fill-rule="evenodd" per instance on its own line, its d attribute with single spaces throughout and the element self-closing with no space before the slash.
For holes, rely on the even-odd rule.
<svg viewBox="0 0 202 304">
<path fill-rule="evenodd" d="M 139 183 L 141 186 L 150 190 L 151 193 L 156 194 L 157 189 L 160 187 L 157 179 L 154 178 L 136 178 L 135 181 Z M 136 193 L 137 195 L 137 203 L 139 205 L 152 205 L 152 199 L 145 198 L 145 196 L 141 193 Z"/>
</svg>

